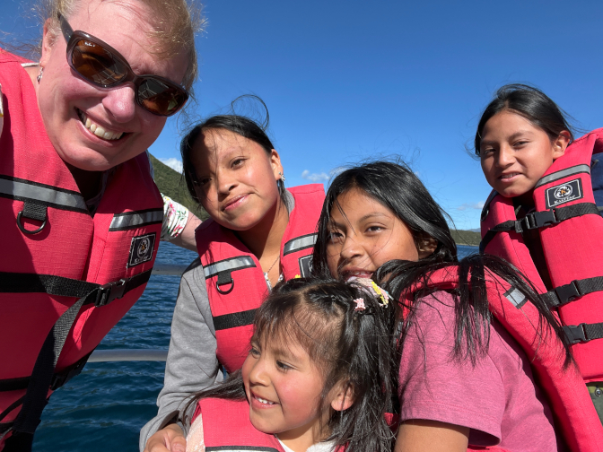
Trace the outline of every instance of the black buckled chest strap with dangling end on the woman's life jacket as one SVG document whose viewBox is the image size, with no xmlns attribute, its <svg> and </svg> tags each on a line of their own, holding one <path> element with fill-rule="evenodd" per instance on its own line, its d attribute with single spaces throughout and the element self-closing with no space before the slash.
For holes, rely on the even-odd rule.
<svg viewBox="0 0 603 452">
<path fill-rule="evenodd" d="M 6 274 L 3 274 L 3 276 L 6 276 Z M 63 315 L 58 318 L 57 323 L 52 326 L 50 332 L 46 336 L 31 372 L 30 384 L 27 387 L 27 392 L 23 399 L 22 409 L 19 414 L 17 414 L 11 430 L 22 433 L 23 437 L 27 437 L 28 435 L 33 435 L 38 427 L 42 411 L 48 403 L 48 388 L 51 387 L 52 384 L 58 357 L 61 354 L 67 335 L 69 335 L 69 331 L 71 330 L 75 317 L 77 317 L 80 309 L 82 309 L 84 305 L 92 303 L 97 307 L 104 306 L 112 300 L 121 298 L 127 291 L 131 291 L 135 287 L 147 282 L 150 276 L 151 270 L 148 270 L 127 280 L 122 279 L 119 282 L 109 282 L 108 284 L 100 285 L 91 282 L 71 280 L 69 278 L 61 278 L 59 276 L 31 274 L 31 277 L 38 277 L 39 284 L 45 289 L 43 291 L 52 295 L 73 297 L 76 296 L 74 295 L 75 292 L 80 293 L 79 291 L 82 290 L 85 284 L 90 284 L 92 290 L 81 296 L 73 306 L 67 309 Z M 3 282 L 5 282 L 5 279 L 6 278 L 4 277 Z M 22 274 L 22 279 L 27 278 Z M 35 278 L 33 279 L 35 280 Z M 78 284 L 78 282 L 83 283 L 84 285 Z M 3 284 L 0 284 L 0 291 L 6 291 L 3 289 Z"/>
</svg>

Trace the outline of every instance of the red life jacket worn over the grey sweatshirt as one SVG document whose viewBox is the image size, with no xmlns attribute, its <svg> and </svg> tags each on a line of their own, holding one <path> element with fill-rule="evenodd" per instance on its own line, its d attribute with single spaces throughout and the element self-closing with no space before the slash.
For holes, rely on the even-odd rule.
<svg viewBox="0 0 603 452">
<path fill-rule="evenodd" d="M 289 192 L 295 205 L 281 242 L 285 281 L 310 273 L 317 223 L 325 199 L 321 184 L 293 187 Z M 253 317 L 268 294 L 266 279 L 258 258 L 232 230 L 209 220 L 197 228 L 196 239 L 214 317 L 216 354 L 231 373 L 242 367 L 249 352 Z"/>
</svg>

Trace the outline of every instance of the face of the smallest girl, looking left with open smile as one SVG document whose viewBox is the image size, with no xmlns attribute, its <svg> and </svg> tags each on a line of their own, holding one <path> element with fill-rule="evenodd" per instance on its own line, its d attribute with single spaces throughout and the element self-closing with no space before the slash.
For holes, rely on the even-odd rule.
<svg viewBox="0 0 603 452">
<path fill-rule="evenodd" d="M 288 340 L 285 346 L 284 340 L 271 338 L 260 345 L 252 340 L 242 376 L 249 420 L 256 429 L 277 433 L 285 443 L 301 441 L 310 446 L 319 440 L 327 411 L 319 413 L 318 409 L 325 382 L 298 343 Z"/>
</svg>

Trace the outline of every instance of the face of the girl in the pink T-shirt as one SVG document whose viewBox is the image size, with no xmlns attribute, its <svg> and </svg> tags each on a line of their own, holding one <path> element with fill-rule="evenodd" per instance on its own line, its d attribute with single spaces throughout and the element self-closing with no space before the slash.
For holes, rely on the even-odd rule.
<svg viewBox="0 0 603 452">
<path fill-rule="evenodd" d="M 337 197 L 330 213 L 328 269 L 334 277 L 370 278 L 392 259 L 417 261 L 428 256 L 417 250 L 411 231 L 388 207 L 363 190 L 352 188 Z M 433 249 L 431 250 L 433 252 Z"/>
</svg>

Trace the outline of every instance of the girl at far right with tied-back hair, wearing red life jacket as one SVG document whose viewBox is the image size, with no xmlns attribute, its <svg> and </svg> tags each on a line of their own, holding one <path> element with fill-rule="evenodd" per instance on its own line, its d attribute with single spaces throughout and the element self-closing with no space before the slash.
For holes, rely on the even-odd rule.
<svg viewBox="0 0 603 452">
<path fill-rule="evenodd" d="M 475 139 L 494 188 L 480 248 L 520 268 L 559 315 L 603 423 L 603 130 L 575 141 L 571 130 L 544 92 L 496 91 Z"/>
</svg>

